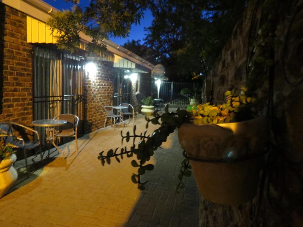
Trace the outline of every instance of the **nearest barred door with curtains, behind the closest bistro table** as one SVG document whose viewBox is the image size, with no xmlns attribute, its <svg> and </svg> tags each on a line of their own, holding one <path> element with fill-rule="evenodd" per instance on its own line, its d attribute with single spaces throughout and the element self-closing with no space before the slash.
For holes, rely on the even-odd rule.
<svg viewBox="0 0 303 227">
<path fill-rule="evenodd" d="M 34 47 L 33 120 L 52 119 L 62 113 L 77 115 L 84 134 L 84 59 L 62 51 Z M 45 130 L 36 128 L 44 141 Z"/>
</svg>

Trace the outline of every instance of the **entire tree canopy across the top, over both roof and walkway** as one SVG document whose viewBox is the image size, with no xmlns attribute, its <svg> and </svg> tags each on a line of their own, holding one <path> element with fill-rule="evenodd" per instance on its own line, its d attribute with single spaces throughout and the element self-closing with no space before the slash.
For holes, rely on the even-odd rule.
<svg viewBox="0 0 303 227">
<path fill-rule="evenodd" d="M 242 16 L 247 0 L 91 0 L 72 11 L 59 12 L 48 21 L 58 29 L 58 48 L 75 51 L 80 31 L 92 37 L 89 51 L 104 51 L 101 40 L 109 36 L 127 37 L 149 8 L 154 16 L 146 28 L 145 44 L 129 41 L 124 47 L 151 63 L 159 61 L 171 80 L 188 80 L 206 74 L 218 58 Z M 157 58 L 157 60 L 155 60 Z"/>
</svg>

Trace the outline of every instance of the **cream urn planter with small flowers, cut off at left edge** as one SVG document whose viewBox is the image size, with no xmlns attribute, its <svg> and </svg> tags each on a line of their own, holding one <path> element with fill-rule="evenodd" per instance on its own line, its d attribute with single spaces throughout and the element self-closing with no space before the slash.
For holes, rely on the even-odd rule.
<svg viewBox="0 0 303 227">
<path fill-rule="evenodd" d="M 5 135 L 0 135 L 5 136 Z M 18 173 L 13 164 L 17 157 L 13 151 L 14 145 L 0 144 L 0 198 L 5 195 L 12 184 L 17 180 Z"/>
</svg>

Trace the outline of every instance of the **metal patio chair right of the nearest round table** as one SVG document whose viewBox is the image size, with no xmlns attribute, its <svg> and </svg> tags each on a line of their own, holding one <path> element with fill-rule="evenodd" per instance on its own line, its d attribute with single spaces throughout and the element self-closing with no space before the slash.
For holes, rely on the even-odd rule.
<svg viewBox="0 0 303 227">
<path fill-rule="evenodd" d="M 53 120 L 66 120 L 67 123 L 63 126 L 59 126 L 55 132 L 55 137 L 75 137 L 76 140 L 76 156 L 78 155 L 78 141 L 77 141 L 77 127 L 79 123 L 79 117 L 64 113 L 53 118 Z"/>
</svg>

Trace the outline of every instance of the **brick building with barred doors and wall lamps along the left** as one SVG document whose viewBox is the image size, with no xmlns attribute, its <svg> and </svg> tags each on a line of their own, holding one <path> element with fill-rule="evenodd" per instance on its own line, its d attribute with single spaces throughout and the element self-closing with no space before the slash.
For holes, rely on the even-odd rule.
<svg viewBox="0 0 303 227">
<path fill-rule="evenodd" d="M 103 127 L 105 105 L 138 111 L 152 92 L 153 65 L 109 40 L 106 53 L 89 54 L 84 34 L 77 54 L 58 50 L 45 24 L 56 12 L 40 0 L 0 0 L 0 121 L 31 126 L 72 113 L 83 134 Z"/>
</svg>

